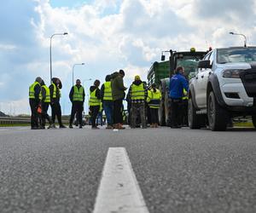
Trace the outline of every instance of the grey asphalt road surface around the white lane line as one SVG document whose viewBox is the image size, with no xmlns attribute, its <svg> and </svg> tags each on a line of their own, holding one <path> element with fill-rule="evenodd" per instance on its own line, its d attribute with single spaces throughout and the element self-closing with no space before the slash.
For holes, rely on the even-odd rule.
<svg viewBox="0 0 256 213">
<path fill-rule="evenodd" d="M 125 147 L 149 212 L 256 212 L 256 131 L 0 129 L 0 212 L 92 212 Z"/>
</svg>

